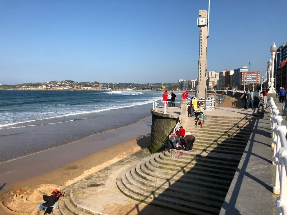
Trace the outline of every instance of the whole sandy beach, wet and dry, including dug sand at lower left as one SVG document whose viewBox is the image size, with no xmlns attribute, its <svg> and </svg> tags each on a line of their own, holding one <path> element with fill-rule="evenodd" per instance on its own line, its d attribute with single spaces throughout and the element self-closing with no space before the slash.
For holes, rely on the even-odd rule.
<svg viewBox="0 0 287 215">
<path fill-rule="evenodd" d="M 1 164 L 1 185 L 10 182 L 1 187 L 1 202 L 21 214 L 34 213 L 42 195 L 49 195 L 58 185 L 68 186 L 149 146 L 150 123 L 151 117 L 147 117 L 126 127 Z M 122 142 L 125 139 L 128 140 Z M 104 146 L 98 147 L 99 143 Z M 100 148 L 102 150 L 98 150 Z M 22 191 L 20 195 L 13 193 L 17 189 Z M 2 203 L 0 214 L 20 214 L 10 211 Z"/>
</svg>

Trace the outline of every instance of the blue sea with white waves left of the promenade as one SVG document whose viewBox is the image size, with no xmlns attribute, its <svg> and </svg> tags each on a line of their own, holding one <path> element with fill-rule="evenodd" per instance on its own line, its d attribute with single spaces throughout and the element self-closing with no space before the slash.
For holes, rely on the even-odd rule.
<svg viewBox="0 0 287 215">
<path fill-rule="evenodd" d="M 136 123 L 155 98 L 162 92 L 1 90 L 0 163 Z"/>
</svg>

